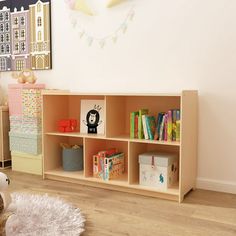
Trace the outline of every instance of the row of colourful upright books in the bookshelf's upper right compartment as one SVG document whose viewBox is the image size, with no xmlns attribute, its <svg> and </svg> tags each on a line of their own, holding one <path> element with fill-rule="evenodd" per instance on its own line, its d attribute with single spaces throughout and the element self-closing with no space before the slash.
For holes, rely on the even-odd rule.
<svg viewBox="0 0 236 236">
<path fill-rule="evenodd" d="M 148 109 L 130 113 L 130 138 L 180 141 L 180 110 L 149 114 Z"/>
</svg>

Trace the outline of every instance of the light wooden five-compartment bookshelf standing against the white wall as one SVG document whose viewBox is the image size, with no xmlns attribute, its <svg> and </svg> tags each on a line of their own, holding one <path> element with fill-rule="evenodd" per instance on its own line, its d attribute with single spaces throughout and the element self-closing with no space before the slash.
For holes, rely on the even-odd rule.
<svg viewBox="0 0 236 236">
<path fill-rule="evenodd" d="M 197 91 L 179 94 L 77 94 L 60 90 L 44 90 L 43 96 L 43 176 L 88 186 L 108 188 L 181 202 L 195 188 L 197 170 Z M 76 118 L 80 121 L 81 99 L 105 101 L 105 133 L 57 132 L 57 121 Z M 169 109 L 181 111 L 180 142 L 130 139 L 129 114 L 148 108 L 150 114 Z M 84 148 L 84 170 L 62 169 L 60 143 L 79 144 Z M 93 177 L 92 156 L 100 150 L 116 147 L 125 153 L 125 173 L 115 180 Z M 167 190 L 139 185 L 138 155 L 147 151 L 175 153 L 179 157 L 179 182 Z"/>
</svg>

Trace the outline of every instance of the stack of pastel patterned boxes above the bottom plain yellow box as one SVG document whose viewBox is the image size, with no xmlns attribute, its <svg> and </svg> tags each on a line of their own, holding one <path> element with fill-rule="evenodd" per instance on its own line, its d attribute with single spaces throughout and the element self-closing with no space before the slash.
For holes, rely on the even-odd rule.
<svg viewBox="0 0 236 236">
<path fill-rule="evenodd" d="M 42 153 L 41 90 L 44 88 L 44 84 L 10 84 L 8 86 L 12 167 L 14 156 L 38 158 Z"/>
</svg>

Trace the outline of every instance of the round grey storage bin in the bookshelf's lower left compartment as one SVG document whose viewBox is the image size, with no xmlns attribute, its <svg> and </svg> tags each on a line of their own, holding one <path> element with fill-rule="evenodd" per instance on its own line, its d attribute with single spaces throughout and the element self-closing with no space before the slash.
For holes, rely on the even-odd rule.
<svg viewBox="0 0 236 236">
<path fill-rule="evenodd" d="M 65 171 L 83 170 L 83 147 L 63 148 L 62 166 Z"/>
</svg>

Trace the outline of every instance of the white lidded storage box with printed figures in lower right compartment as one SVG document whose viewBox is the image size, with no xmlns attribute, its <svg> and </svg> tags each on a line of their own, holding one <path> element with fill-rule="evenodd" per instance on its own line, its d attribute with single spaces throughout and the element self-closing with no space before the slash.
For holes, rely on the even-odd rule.
<svg viewBox="0 0 236 236">
<path fill-rule="evenodd" d="M 178 181 L 178 156 L 147 152 L 139 155 L 139 184 L 167 189 Z"/>
</svg>

